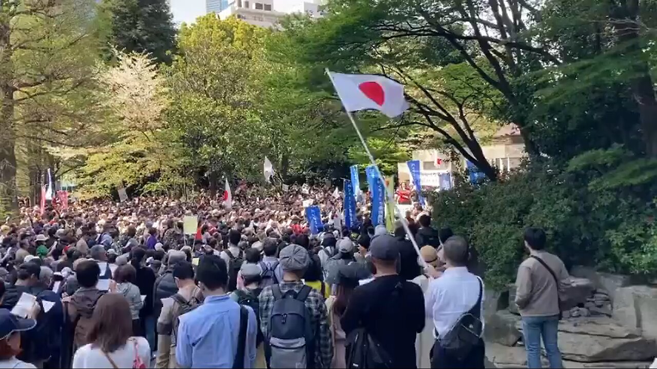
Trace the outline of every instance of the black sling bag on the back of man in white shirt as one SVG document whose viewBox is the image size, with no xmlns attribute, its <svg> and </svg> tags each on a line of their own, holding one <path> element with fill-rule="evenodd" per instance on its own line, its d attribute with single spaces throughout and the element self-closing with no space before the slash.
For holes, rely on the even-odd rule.
<svg viewBox="0 0 657 369">
<path fill-rule="evenodd" d="M 449 332 L 440 338 L 440 345 L 452 355 L 466 357 L 480 343 L 483 331 L 483 324 L 480 320 L 483 288 L 482 281 L 479 280 L 479 298 L 477 302 L 470 311 L 459 316 L 459 320 Z"/>
</svg>

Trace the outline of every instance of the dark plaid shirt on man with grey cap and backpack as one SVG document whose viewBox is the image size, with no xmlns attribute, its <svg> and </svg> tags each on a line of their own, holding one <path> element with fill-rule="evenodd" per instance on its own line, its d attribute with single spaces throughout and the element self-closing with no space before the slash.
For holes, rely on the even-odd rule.
<svg viewBox="0 0 657 369">
<path fill-rule="evenodd" d="M 288 290 L 299 292 L 304 286 L 301 281 L 283 282 L 281 293 Z M 271 286 L 265 287 L 260 293 L 260 328 L 262 334 L 269 334 L 269 318 L 274 307 L 274 293 Z M 315 368 L 329 368 L 333 358 L 333 341 L 328 326 L 327 307 L 321 293 L 311 290 L 306 299 L 306 307 L 310 311 L 311 326 L 315 328 Z"/>
</svg>

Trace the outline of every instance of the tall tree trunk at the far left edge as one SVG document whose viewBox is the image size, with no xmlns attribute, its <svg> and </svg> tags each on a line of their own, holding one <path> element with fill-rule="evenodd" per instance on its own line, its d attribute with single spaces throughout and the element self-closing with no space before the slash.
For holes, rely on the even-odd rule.
<svg viewBox="0 0 657 369">
<path fill-rule="evenodd" d="M 16 133 L 9 22 L 0 24 L 0 211 L 18 212 Z"/>
</svg>

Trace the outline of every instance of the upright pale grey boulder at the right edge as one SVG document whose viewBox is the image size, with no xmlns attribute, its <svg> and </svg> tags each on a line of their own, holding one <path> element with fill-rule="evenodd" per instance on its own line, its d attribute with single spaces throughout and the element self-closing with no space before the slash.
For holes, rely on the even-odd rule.
<svg viewBox="0 0 657 369">
<path fill-rule="evenodd" d="M 657 288 L 618 288 L 612 316 L 623 326 L 639 328 L 644 336 L 657 338 Z"/>
</svg>

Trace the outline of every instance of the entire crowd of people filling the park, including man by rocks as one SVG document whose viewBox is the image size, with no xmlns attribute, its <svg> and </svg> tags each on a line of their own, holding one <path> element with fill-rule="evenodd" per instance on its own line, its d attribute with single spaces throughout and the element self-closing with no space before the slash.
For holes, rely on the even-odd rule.
<svg viewBox="0 0 657 369">
<path fill-rule="evenodd" d="M 418 255 L 402 220 L 373 227 L 359 203 L 343 227 L 341 202 L 328 187 L 241 185 L 231 207 L 201 194 L 23 208 L 0 227 L 0 368 L 484 368 L 466 239 L 414 207 Z M 542 336 L 560 368 L 555 281 L 568 274 L 542 230 L 525 245 L 528 364 L 540 367 Z"/>
</svg>

